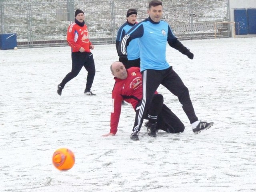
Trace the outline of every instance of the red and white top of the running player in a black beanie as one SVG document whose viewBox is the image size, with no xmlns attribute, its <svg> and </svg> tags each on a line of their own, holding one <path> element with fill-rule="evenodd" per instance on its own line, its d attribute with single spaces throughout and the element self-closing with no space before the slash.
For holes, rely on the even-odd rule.
<svg viewBox="0 0 256 192">
<path fill-rule="evenodd" d="M 89 40 L 89 32 L 86 24 L 79 26 L 76 23 L 72 23 L 68 27 L 67 42 L 72 52 L 78 52 L 81 47 L 84 48 L 85 52 L 90 52 L 92 42 Z"/>
</svg>

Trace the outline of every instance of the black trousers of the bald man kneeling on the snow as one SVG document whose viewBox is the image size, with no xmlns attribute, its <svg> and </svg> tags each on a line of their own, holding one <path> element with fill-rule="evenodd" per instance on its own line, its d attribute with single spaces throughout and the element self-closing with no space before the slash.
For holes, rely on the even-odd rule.
<svg viewBox="0 0 256 192">
<path fill-rule="evenodd" d="M 156 128 L 158 130 L 164 130 L 168 133 L 179 133 L 183 132 L 185 129 L 184 124 L 181 120 L 168 108 L 165 104 L 163 104 L 164 98 L 161 94 L 154 94 L 152 98 L 152 102 L 148 108 L 145 119 L 148 119 L 150 122 L 150 117 L 157 116 Z M 138 104 L 140 106 L 140 104 Z M 136 110 L 136 120 L 138 119 L 139 109 Z M 133 130 L 134 131 L 134 130 Z"/>
</svg>

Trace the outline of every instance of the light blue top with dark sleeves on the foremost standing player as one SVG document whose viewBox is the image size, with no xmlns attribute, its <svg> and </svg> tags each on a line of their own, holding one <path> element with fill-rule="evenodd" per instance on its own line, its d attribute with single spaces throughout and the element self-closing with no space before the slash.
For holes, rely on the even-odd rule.
<svg viewBox="0 0 256 192">
<path fill-rule="evenodd" d="M 118 47 L 118 55 L 129 56 L 127 45 L 138 39 L 140 48 L 140 70 L 164 70 L 170 67 L 166 61 L 166 43 L 184 52 L 181 42 L 174 36 L 167 22 L 154 22 L 150 17 L 133 26 L 122 39 Z"/>
</svg>

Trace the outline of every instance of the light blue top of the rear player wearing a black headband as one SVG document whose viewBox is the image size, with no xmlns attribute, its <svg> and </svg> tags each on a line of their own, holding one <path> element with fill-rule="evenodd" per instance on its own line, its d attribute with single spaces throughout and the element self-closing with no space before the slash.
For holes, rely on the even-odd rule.
<svg viewBox="0 0 256 192">
<path fill-rule="evenodd" d="M 130 24 L 128 22 L 125 22 L 124 24 L 122 24 L 122 26 L 120 26 L 120 28 L 118 29 L 117 32 L 117 36 L 116 36 L 116 50 L 118 51 L 118 46 L 122 40 L 122 38 L 124 37 L 124 35 L 133 27 L 133 24 Z M 128 60 L 135 60 L 140 58 L 140 50 L 139 50 L 139 46 L 138 46 L 138 39 L 133 40 L 132 42 L 130 42 L 129 46 L 127 47 L 127 58 Z M 118 55 L 119 56 L 119 55 Z"/>
</svg>

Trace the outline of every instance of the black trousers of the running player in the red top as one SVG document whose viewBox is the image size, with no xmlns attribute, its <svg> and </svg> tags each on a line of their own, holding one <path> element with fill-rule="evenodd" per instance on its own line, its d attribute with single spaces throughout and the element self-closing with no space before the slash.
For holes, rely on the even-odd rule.
<svg viewBox="0 0 256 192">
<path fill-rule="evenodd" d="M 88 52 L 72 52 L 71 53 L 72 58 L 72 69 L 71 72 L 69 72 L 66 77 L 62 80 L 60 83 L 60 86 L 64 87 L 67 82 L 75 78 L 82 67 L 86 69 L 88 72 L 87 79 L 86 79 L 86 90 L 91 90 L 92 83 L 95 76 L 95 64 L 92 53 Z"/>
</svg>

